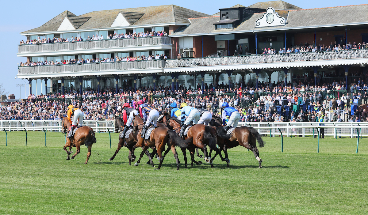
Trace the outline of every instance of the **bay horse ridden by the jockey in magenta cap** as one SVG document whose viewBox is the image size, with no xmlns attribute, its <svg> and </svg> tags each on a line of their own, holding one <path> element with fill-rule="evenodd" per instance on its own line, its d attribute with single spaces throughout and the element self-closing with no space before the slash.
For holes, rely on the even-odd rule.
<svg viewBox="0 0 368 215">
<path fill-rule="evenodd" d="M 144 125 L 143 119 L 139 115 L 135 115 L 133 118 L 132 124 L 133 124 L 133 129 L 138 130 L 138 141 L 135 144 L 135 146 L 133 146 L 133 153 L 134 153 L 135 148 L 144 147 L 137 163 L 134 164 L 135 166 L 139 165 L 139 162 L 141 161 L 141 158 L 148 147 L 156 146 L 157 154 L 159 155 L 159 161 L 160 161 L 160 164 L 158 168 L 156 169 L 160 169 L 163 159 L 164 159 L 162 152 L 165 150 L 165 145 L 167 145 L 168 148 L 166 152 L 168 152 L 171 149 L 171 151 L 174 154 L 174 158 L 176 160 L 176 169 L 179 170 L 180 162 L 179 162 L 179 158 L 178 158 L 178 154 L 176 152 L 175 146 L 177 144 L 180 148 L 184 148 L 184 151 L 185 151 L 185 148 L 188 147 L 188 144 L 192 142 L 191 138 L 188 138 L 187 140 L 183 140 L 180 138 L 180 136 L 177 133 L 173 132 L 172 130 L 164 126 L 164 127 L 158 127 L 158 128 L 153 129 L 149 136 L 149 139 L 146 140 L 141 137 L 141 129 L 142 129 L 142 126 Z M 186 161 L 186 157 L 184 157 L 184 160 Z M 153 162 L 152 162 L 152 165 L 153 165 Z M 187 168 L 187 166 L 185 167 Z"/>
</svg>

